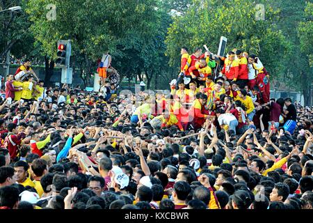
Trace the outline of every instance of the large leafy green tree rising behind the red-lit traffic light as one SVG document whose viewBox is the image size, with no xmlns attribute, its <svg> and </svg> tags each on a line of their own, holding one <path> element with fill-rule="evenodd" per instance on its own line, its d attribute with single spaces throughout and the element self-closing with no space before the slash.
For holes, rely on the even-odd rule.
<svg viewBox="0 0 313 223">
<path fill-rule="evenodd" d="M 48 4 L 56 8 L 55 20 L 47 20 Z M 155 19 L 155 1 L 97 1 L 97 0 L 43 0 L 28 1 L 28 9 L 35 40 L 52 59 L 56 58 L 56 42 L 72 40 L 72 67 L 78 68 L 85 85 L 91 84 L 91 75 L 97 68 L 97 59 L 105 49 L 116 58 L 123 54 L 118 48 L 127 46 L 133 38 L 145 39 L 152 35 Z M 145 20 L 143 20 L 145 18 Z M 121 63 L 121 67 L 127 64 Z"/>
</svg>

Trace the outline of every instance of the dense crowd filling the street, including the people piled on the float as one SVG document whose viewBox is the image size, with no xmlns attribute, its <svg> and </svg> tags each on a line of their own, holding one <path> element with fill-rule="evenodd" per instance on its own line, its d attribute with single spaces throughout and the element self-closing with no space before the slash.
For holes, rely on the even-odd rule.
<svg viewBox="0 0 313 223">
<path fill-rule="evenodd" d="M 313 109 L 270 98 L 257 56 L 183 47 L 168 95 L 101 76 L 99 93 L 44 89 L 29 61 L 7 77 L 0 209 L 312 209 Z"/>
</svg>

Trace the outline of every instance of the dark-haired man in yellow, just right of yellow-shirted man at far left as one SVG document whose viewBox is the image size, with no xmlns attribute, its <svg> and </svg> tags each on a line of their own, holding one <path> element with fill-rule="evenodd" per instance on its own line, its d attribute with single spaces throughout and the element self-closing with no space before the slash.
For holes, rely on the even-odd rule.
<svg viewBox="0 0 313 223">
<path fill-rule="evenodd" d="M 35 190 L 37 190 L 37 193 L 41 197 L 44 191 L 42 189 L 40 180 L 42 176 L 45 176 L 45 174 L 47 174 L 47 162 L 42 159 L 35 159 L 31 163 L 31 169 L 33 170 L 33 174 L 35 176 L 35 180 L 33 180 Z"/>
</svg>

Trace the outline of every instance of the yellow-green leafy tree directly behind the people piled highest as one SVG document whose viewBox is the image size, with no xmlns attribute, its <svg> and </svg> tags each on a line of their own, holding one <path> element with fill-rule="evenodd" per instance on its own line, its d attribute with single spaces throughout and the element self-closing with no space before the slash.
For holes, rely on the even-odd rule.
<svg viewBox="0 0 313 223">
<path fill-rule="evenodd" d="M 180 47 L 192 50 L 206 44 L 217 51 L 220 36 L 227 37 L 227 50 L 244 49 L 257 54 L 271 76 L 278 75 L 278 59 L 287 49 L 284 36 L 275 27 L 278 11 L 266 6 L 266 20 L 256 20 L 256 3 L 252 1 L 193 0 L 186 13 L 175 16 L 168 29 L 166 55 L 178 69 Z M 270 56 L 274 55 L 275 56 Z"/>
</svg>

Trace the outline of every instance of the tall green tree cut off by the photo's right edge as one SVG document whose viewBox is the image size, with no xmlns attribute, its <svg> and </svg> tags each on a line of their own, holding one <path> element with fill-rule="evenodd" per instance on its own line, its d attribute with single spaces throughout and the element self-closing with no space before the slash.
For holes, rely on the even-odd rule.
<svg viewBox="0 0 313 223">
<path fill-rule="evenodd" d="M 313 79 L 308 52 L 312 52 L 312 38 L 310 39 L 312 31 L 311 34 L 310 30 L 306 32 L 306 29 L 310 29 L 308 20 L 310 16 L 312 18 L 312 15 L 309 15 L 310 4 L 305 9 L 305 0 L 270 0 L 268 3 L 273 8 L 280 9 L 278 13 L 279 20 L 276 24 L 287 38 L 288 50 L 284 52 L 284 56 L 280 61 L 282 75 L 280 75 L 278 81 L 287 84 L 289 89 L 300 91 L 303 94 L 304 104 L 311 105 L 310 89 Z M 306 18 L 303 11 L 306 11 Z"/>
</svg>

